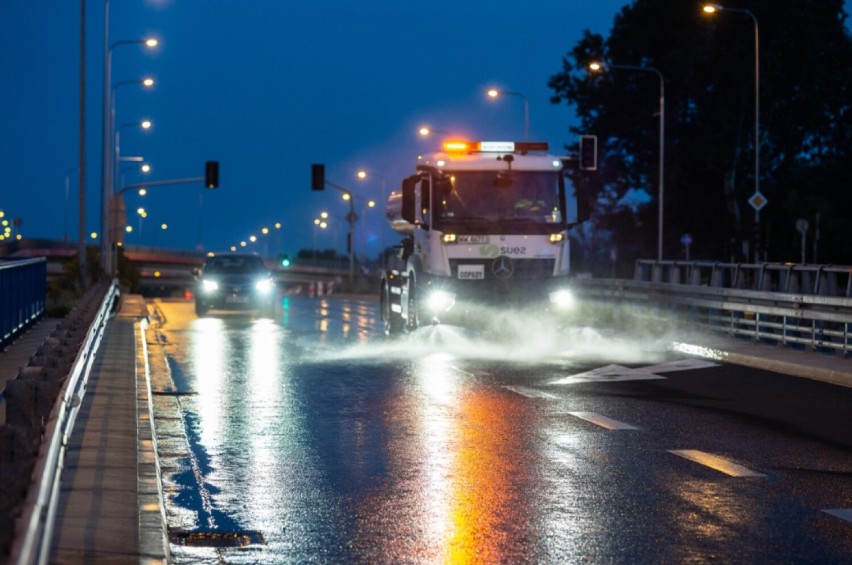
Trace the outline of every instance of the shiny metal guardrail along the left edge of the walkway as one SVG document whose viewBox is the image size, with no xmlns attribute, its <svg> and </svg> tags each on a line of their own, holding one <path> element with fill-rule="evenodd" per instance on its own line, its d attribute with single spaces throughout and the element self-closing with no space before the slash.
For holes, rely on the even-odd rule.
<svg viewBox="0 0 852 565">
<path fill-rule="evenodd" d="M 50 544 L 59 502 L 59 486 L 68 438 L 85 395 L 95 354 L 103 339 L 110 309 L 119 294 L 118 282 L 113 281 L 94 316 L 86 338 L 81 345 L 74 364 L 69 371 L 56 403 L 50 412 L 38 462 L 33 471 L 34 482 L 30 485 L 25 502 L 19 534 L 12 547 L 9 563 L 32 565 L 47 563 Z"/>
</svg>

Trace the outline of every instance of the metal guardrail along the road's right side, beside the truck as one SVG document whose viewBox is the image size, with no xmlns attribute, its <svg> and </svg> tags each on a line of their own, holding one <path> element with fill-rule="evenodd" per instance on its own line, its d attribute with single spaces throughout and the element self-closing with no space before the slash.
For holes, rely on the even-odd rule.
<svg viewBox="0 0 852 565">
<path fill-rule="evenodd" d="M 634 280 L 577 279 L 575 287 L 702 329 L 852 353 L 852 267 L 640 260 Z"/>
</svg>

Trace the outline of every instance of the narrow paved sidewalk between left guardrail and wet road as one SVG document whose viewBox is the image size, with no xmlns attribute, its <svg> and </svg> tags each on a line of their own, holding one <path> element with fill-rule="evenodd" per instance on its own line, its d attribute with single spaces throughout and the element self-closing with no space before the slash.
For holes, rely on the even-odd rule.
<svg viewBox="0 0 852 565">
<path fill-rule="evenodd" d="M 110 321 L 69 440 L 50 562 L 166 563 L 144 316 L 125 296 Z"/>
</svg>

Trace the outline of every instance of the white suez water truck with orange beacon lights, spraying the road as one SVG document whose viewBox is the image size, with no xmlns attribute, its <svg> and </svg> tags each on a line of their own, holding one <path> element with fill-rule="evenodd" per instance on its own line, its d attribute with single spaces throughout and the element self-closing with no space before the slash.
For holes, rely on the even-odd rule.
<svg viewBox="0 0 852 565">
<path fill-rule="evenodd" d="M 403 235 L 382 277 L 388 333 L 465 303 L 552 304 L 566 297 L 568 230 L 581 221 L 564 159 L 542 143 L 449 145 L 423 156 L 388 200 Z"/>
</svg>

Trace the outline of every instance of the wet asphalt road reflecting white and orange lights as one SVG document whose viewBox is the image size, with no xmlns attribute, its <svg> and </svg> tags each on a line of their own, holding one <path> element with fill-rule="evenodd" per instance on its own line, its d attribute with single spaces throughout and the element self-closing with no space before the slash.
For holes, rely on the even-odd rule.
<svg viewBox="0 0 852 565">
<path fill-rule="evenodd" d="M 156 306 L 177 563 L 852 560 L 852 390 L 535 317 Z"/>
</svg>

